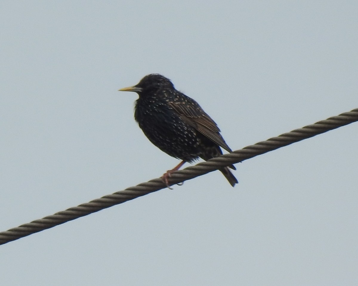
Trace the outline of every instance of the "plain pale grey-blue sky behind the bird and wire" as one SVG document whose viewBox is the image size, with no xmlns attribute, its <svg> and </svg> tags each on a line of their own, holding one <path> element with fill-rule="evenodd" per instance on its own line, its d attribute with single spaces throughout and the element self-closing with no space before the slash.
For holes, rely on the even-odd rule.
<svg viewBox="0 0 358 286">
<path fill-rule="evenodd" d="M 357 1 L 6 1 L 0 231 L 178 160 L 117 92 L 161 73 L 232 149 L 358 107 Z M 3 285 L 357 285 L 358 124 L 0 246 Z"/>
</svg>

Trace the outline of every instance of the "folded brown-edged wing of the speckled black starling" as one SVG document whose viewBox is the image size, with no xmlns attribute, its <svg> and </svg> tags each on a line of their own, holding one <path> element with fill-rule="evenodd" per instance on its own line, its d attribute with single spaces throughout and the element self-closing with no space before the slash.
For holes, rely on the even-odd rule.
<svg viewBox="0 0 358 286">
<path fill-rule="evenodd" d="M 220 135 L 220 129 L 216 125 L 213 119 L 200 107 L 200 105 L 193 99 L 186 97 L 176 97 L 174 100 L 170 100 L 170 107 L 172 107 L 180 117 L 193 126 L 205 137 L 224 148 L 226 151 L 232 150 L 227 146 L 225 140 Z"/>
</svg>

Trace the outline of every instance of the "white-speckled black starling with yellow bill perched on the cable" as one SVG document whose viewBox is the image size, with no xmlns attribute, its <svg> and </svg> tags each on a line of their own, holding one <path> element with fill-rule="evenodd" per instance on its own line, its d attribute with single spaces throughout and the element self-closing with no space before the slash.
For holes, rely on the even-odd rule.
<svg viewBox="0 0 358 286">
<path fill-rule="evenodd" d="M 194 99 L 176 90 L 163 75 L 146 75 L 138 84 L 120 91 L 139 95 L 134 118 L 150 142 L 168 155 L 182 160 L 163 175 L 167 186 L 170 174 L 185 162 L 193 162 L 199 157 L 206 161 L 220 156 L 220 147 L 231 152 L 213 119 Z M 229 167 L 236 170 L 233 165 Z M 237 183 L 228 167 L 219 170 L 231 186 Z"/>
</svg>

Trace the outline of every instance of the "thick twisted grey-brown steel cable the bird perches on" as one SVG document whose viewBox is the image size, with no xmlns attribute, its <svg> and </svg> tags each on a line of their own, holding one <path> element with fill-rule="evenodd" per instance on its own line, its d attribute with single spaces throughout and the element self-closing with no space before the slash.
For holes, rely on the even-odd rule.
<svg viewBox="0 0 358 286">
<path fill-rule="evenodd" d="M 247 146 L 241 150 L 224 154 L 220 157 L 210 159 L 209 161 L 190 166 L 183 170 L 174 172 L 169 180 L 170 184 L 178 184 L 188 179 L 192 179 L 203 174 L 217 170 L 222 166 L 229 166 L 234 163 L 242 162 L 257 155 L 273 151 L 280 147 L 301 141 L 306 138 L 327 132 L 329 130 L 358 121 L 358 108 L 350 112 L 345 112 L 337 116 L 321 120 L 303 128 L 292 130 L 291 132 L 272 137 L 266 141 L 258 142 Z M 131 199 L 144 196 L 146 194 L 166 188 L 161 178 L 152 179 L 148 182 L 138 184 L 134 187 L 126 188 L 122 191 L 108 194 L 104 197 L 94 199 L 88 203 L 80 204 L 77 207 L 57 212 L 54 215 L 46 216 L 39 220 L 25 223 L 10 230 L 0 232 L 0 245 L 17 240 L 21 237 L 46 230 L 48 228 L 60 225 L 62 223 L 75 220 L 76 218 L 89 215 L 90 213 L 100 211 L 101 209 L 114 206 L 116 204 L 130 201 Z"/>
</svg>

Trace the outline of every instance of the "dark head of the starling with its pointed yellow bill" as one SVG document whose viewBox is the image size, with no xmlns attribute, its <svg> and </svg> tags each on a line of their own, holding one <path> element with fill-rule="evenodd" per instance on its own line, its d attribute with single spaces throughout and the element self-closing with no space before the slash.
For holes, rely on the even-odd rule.
<svg viewBox="0 0 358 286">
<path fill-rule="evenodd" d="M 122 92 L 136 92 L 139 95 L 156 93 L 159 89 L 174 89 L 170 79 L 160 74 L 149 74 L 140 80 L 140 82 L 132 87 L 118 89 Z"/>
</svg>

